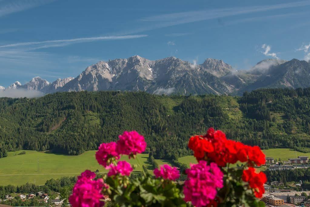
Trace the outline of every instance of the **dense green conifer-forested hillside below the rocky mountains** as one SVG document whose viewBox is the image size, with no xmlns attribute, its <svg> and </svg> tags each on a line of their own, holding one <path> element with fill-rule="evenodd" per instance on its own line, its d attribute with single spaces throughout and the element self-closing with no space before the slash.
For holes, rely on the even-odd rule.
<svg viewBox="0 0 310 207">
<path fill-rule="evenodd" d="M 81 154 L 124 130 L 143 134 L 155 158 L 189 155 L 188 138 L 209 127 L 262 148 L 310 147 L 310 88 L 230 96 L 62 92 L 0 98 L 0 157 L 17 149 Z"/>
</svg>

